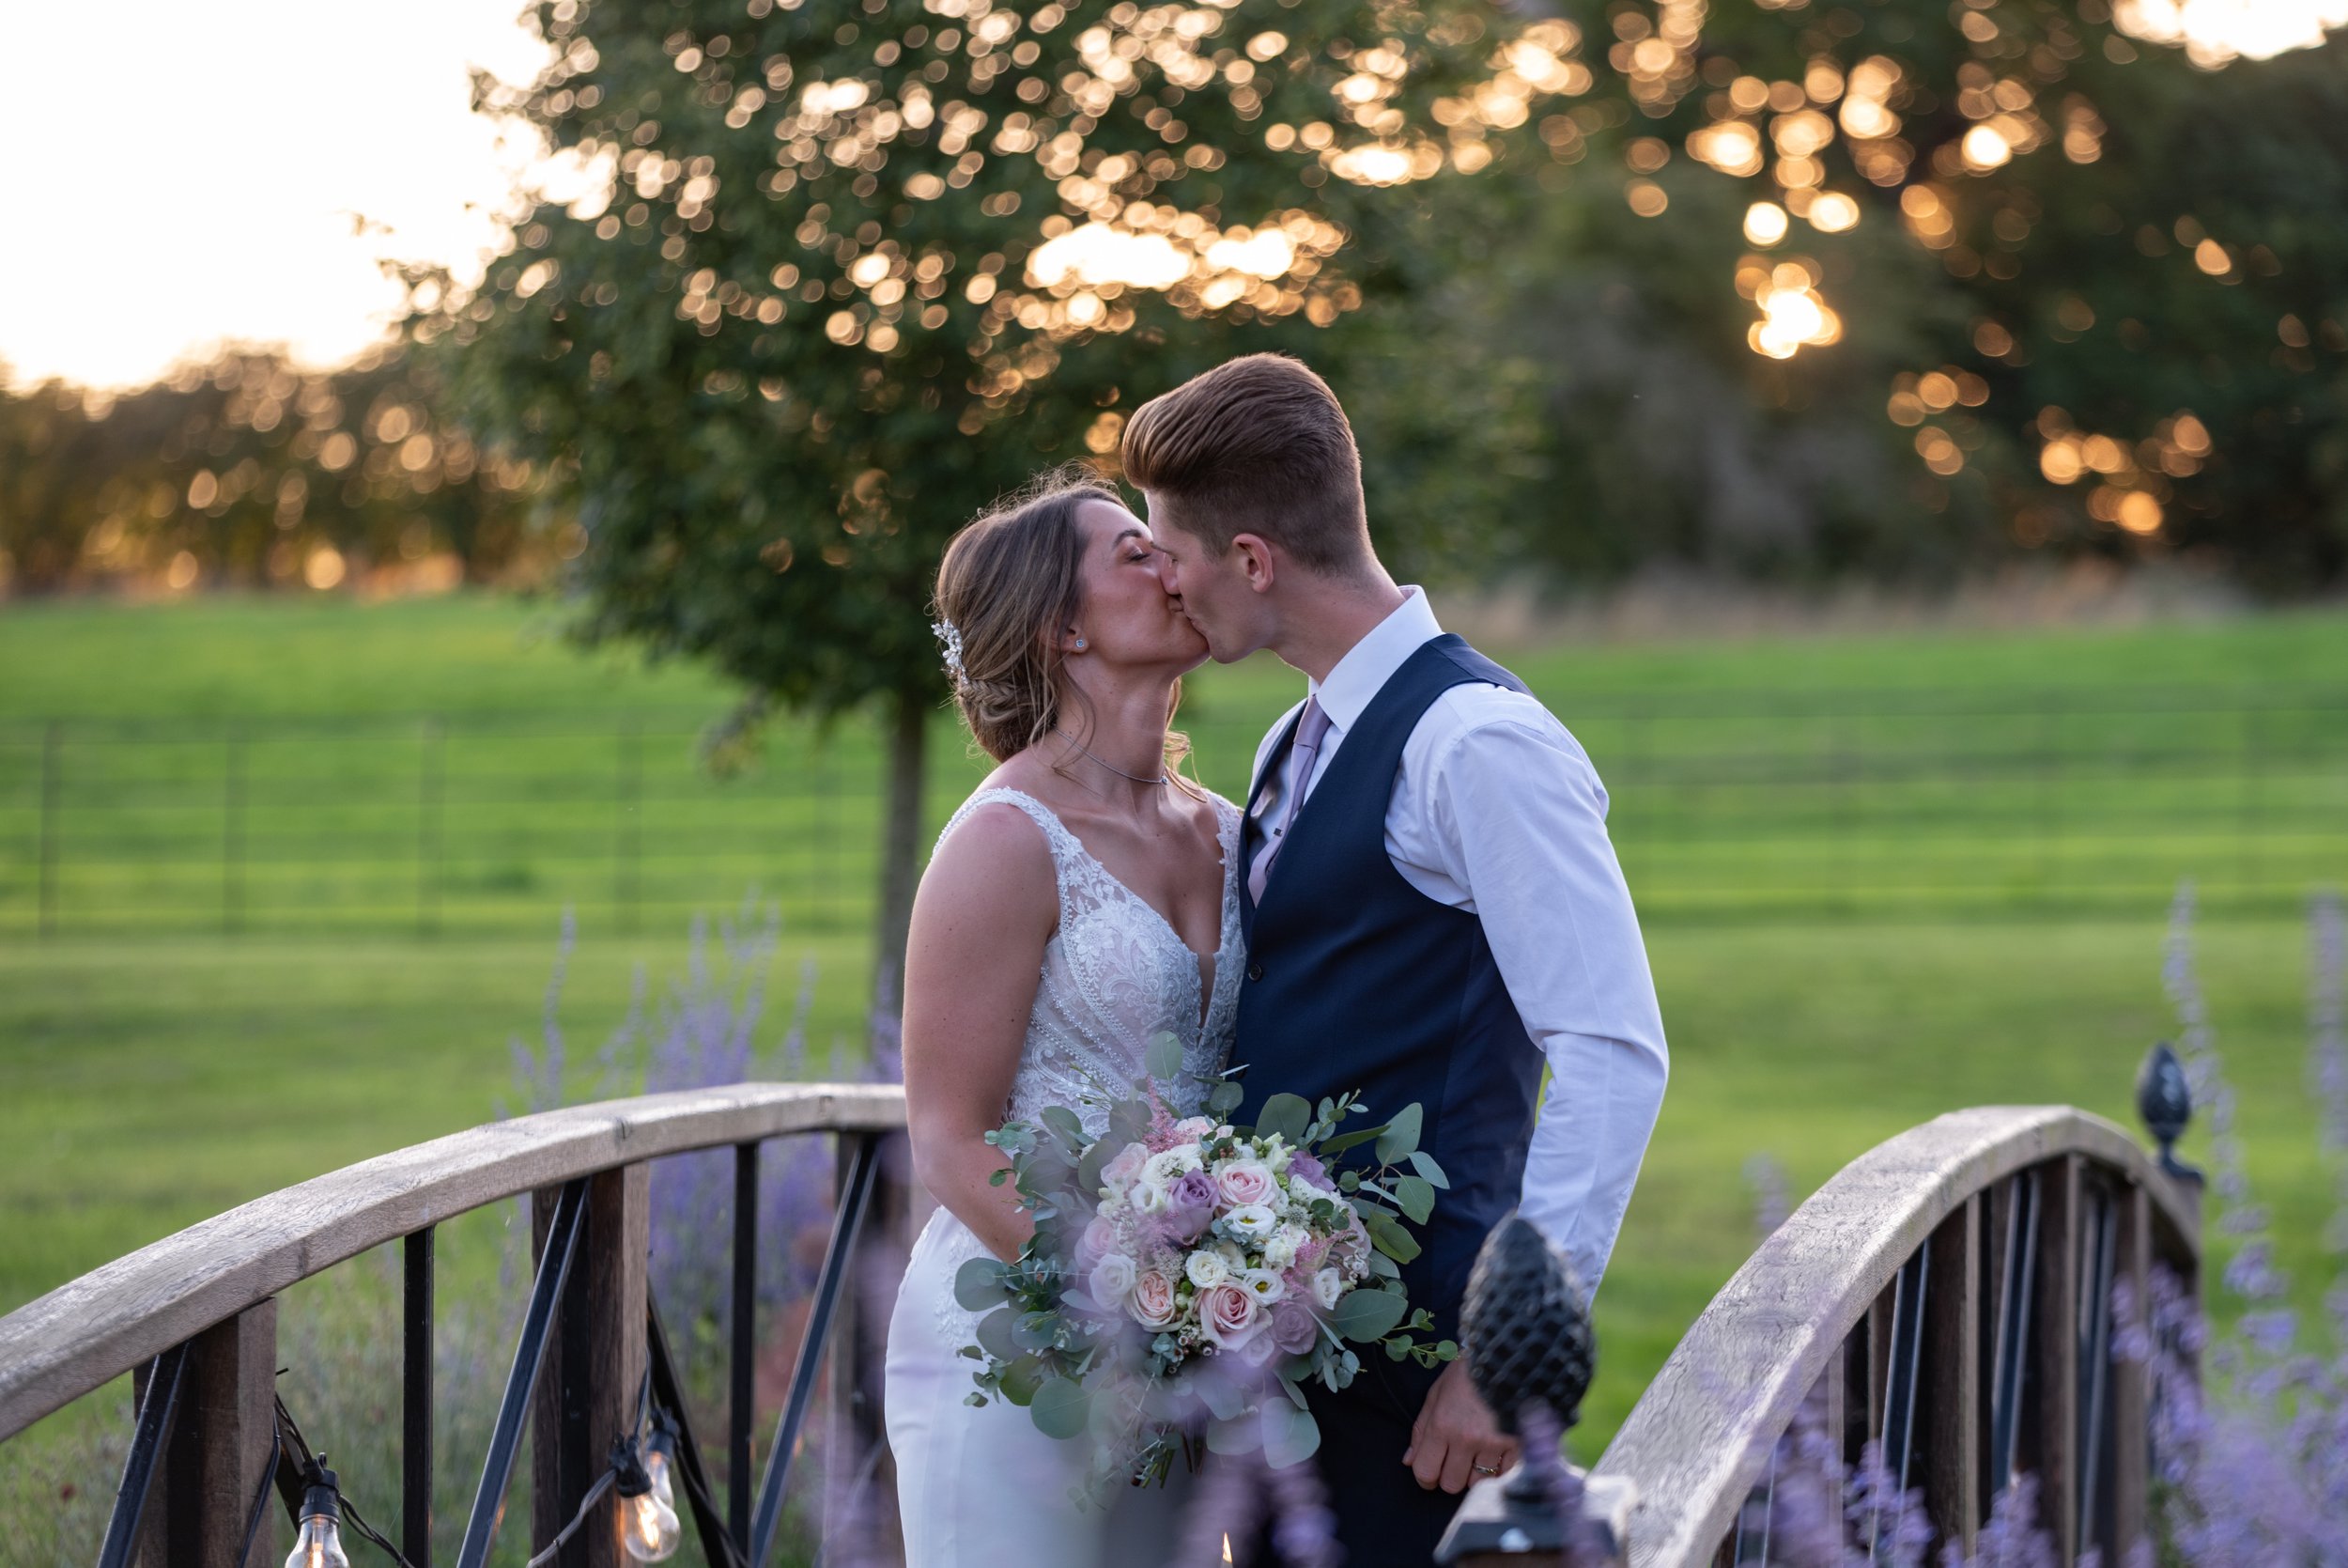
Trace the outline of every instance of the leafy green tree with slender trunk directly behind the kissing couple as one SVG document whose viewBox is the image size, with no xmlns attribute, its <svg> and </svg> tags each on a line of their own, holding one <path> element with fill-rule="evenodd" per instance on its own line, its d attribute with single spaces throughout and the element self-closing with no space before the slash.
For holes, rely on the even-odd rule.
<svg viewBox="0 0 2348 1568">
<path fill-rule="evenodd" d="M 589 195 L 474 291 L 418 275 L 474 437 L 575 514 L 587 641 L 768 704 L 880 707 L 878 974 L 904 951 L 939 547 L 1125 408 L 1247 350 L 1343 361 L 1442 275 L 1425 181 L 1587 87 L 1576 28 L 1439 0 L 667 0 L 535 9 L 481 103 Z M 1341 392 L 1345 390 L 1338 378 Z"/>
</svg>

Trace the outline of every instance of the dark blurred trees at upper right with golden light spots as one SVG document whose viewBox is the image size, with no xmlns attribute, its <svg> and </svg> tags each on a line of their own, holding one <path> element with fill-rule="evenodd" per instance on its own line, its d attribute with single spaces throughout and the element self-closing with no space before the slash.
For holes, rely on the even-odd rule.
<svg viewBox="0 0 2348 1568">
<path fill-rule="evenodd" d="M 1442 195 L 1529 237 L 1449 329 L 1540 399 L 1498 559 L 2348 573 L 2348 47 L 2214 70 L 2094 0 L 1578 16 L 1620 92 Z"/>
</svg>

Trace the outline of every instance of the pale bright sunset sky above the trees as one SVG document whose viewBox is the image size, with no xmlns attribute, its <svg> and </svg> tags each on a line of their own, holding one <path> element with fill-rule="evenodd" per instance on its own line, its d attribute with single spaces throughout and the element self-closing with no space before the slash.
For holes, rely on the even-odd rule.
<svg viewBox="0 0 2348 1568">
<path fill-rule="evenodd" d="M 2348 23 L 2348 0 L 2134 9 L 2137 31 L 2245 54 Z M 284 343 L 310 364 L 376 340 L 394 300 L 378 258 L 472 263 L 531 164 L 533 148 L 467 108 L 467 66 L 526 80 L 545 56 L 514 14 L 517 0 L 0 7 L 19 160 L 0 373 L 122 387 L 221 340 Z"/>
</svg>

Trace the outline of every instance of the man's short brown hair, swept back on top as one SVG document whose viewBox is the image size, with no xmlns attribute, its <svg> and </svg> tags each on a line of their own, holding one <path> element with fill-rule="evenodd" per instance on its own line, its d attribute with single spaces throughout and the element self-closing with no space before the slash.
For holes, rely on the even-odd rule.
<svg viewBox="0 0 2348 1568">
<path fill-rule="evenodd" d="M 1247 354 L 1134 408 L 1125 479 L 1153 516 L 1216 556 L 1256 533 L 1320 573 L 1371 559 L 1362 453 L 1320 376 L 1287 354 Z"/>
</svg>

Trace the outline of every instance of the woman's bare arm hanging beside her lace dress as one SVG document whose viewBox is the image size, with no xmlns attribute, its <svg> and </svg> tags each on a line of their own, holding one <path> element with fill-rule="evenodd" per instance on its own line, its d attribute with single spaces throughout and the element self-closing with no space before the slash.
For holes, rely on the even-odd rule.
<svg viewBox="0 0 2348 1568">
<path fill-rule="evenodd" d="M 1012 805 L 977 810 L 937 847 L 913 897 L 904 962 L 904 1106 L 913 1176 L 998 1258 L 1033 1232 L 1007 1160 L 986 1143 L 1003 1124 L 1043 948 L 1059 922 L 1052 850 Z"/>
</svg>

